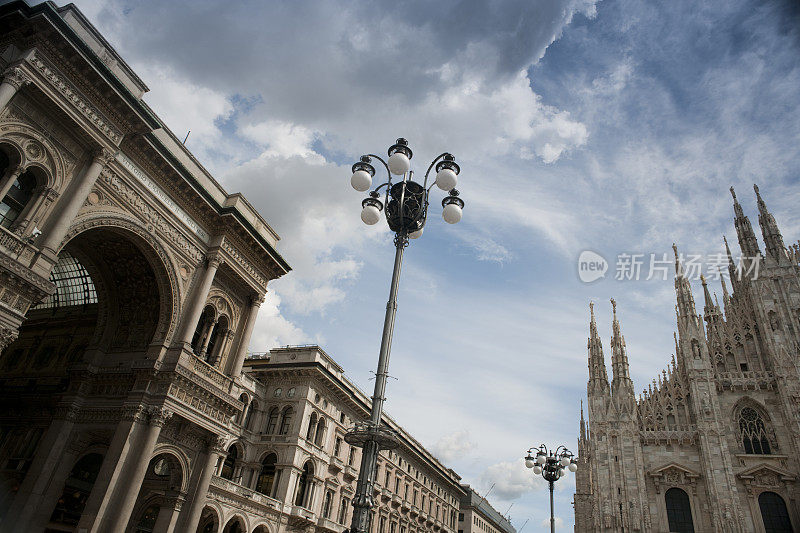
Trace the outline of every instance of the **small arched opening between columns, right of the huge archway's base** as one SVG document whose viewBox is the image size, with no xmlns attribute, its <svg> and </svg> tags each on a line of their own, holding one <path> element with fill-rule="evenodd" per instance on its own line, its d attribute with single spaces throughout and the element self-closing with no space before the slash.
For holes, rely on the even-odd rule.
<svg viewBox="0 0 800 533">
<path fill-rule="evenodd" d="M 150 460 L 128 531 L 166 531 L 175 522 L 183 499 L 183 475 L 180 462 L 171 453 L 160 453 Z"/>
</svg>

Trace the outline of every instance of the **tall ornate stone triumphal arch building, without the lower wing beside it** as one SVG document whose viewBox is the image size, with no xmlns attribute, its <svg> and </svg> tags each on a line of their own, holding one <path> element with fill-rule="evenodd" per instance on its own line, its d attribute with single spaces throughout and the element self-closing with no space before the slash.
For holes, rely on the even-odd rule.
<svg viewBox="0 0 800 533">
<path fill-rule="evenodd" d="M 147 90 L 74 6 L 0 6 L 2 531 L 194 531 L 289 271 Z"/>
</svg>

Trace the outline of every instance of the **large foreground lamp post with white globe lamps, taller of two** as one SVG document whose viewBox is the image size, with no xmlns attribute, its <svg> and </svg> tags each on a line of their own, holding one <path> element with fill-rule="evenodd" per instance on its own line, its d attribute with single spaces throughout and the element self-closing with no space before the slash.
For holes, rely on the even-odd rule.
<svg viewBox="0 0 800 533">
<path fill-rule="evenodd" d="M 422 235 L 428 215 L 428 199 L 431 189 L 436 185 L 447 191 L 447 196 L 442 200 L 442 216 L 445 222 L 455 224 L 461 220 L 461 210 L 464 201 L 458 197 L 455 186 L 461 169 L 456 164 L 455 157 L 449 153 L 437 156 L 428 166 L 425 179 L 420 184 L 414 181 L 411 168 L 413 153 L 408 147 L 408 141 L 397 139 L 388 150 L 389 157 L 384 160 L 380 156 L 367 154 L 353 165 L 353 176 L 350 184 L 359 192 L 366 192 L 372 187 L 375 177 L 373 160 L 378 160 L 386 169 L 387 179 L 369 192 L 369 196 L 361 202 L 361 220 L 365 224 L 374 225 L 380 221 L 383 211 L 389 229 L 394 232 L 394 270 L 392 271 L 392 284 L 389 289 L 389 302 L 386 304 L 386 317 L 383 322 L 383 336 L 381 337 L 381 350 L 378 356 L 378 371 L 375 373 L 375 389 L 372 393 L 372 408 L 367 422 L 355 424 L 347 435 L 345 441 L 351 446 L 363 448 L 361 468 L 358 472 L 356 494 L 353 498 L 353 520 L 350 533 L 365 533 L 369 519 L 369 511 L 374 505 L 373 484 L 375 482 L 375 467 L 378 452 L 381 449 L 389 450 L 397 447 L 395 433 L 381 426 L 383 403 L 386 400 L 386 379 L 389 369 L 389 352 L 392 347 L 392 333 L 394 331 L 394 317 L 397 312 L 397 286 L 400 281 L 400 267 L 403 263 L 403 250 L 408 246 L 409 239 L 417 239 Z M 431 170 L 436 170 L 436 178 L 428 186 Z M 398 176 L 392 182 L 392 176 Z M 381 199 L 381 189 L 383 198 Z"/>
</svg>

